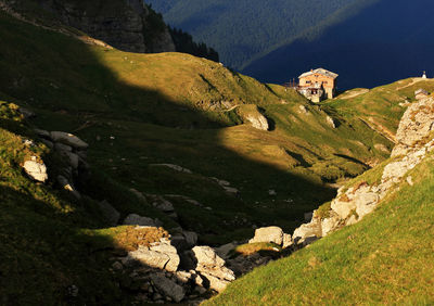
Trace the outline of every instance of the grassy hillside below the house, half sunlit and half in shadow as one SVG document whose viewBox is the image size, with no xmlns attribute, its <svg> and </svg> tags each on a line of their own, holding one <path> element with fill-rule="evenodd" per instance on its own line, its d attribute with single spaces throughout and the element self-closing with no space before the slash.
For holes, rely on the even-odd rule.
<svg viewBox="0 0 434 306">
<path fill-rule="evenodd" d="M 124 204 L 133 200 L 97 188 L 99 182 L 111 178 L 125 190 L 191 196 L 213 211 L 193 215 L 180 203 L 180 222 L 204 233 L 205 242 L 250 235 L 252 224 L 291 230 L 303 213 L 333 195 L 323 181 L 363 171 L 363 163 L 386 156 L 374 144 L 392 145 L 333 107 L 309 105 L 292 90 L 204 59 L 86 46 L 4 14 L 0 23 L 0 92 L 33 109 L 37 126 L 77 132 L 90 143 L 89 161 L 100 176 L 88 192 L 98 200 L 111 194 L 123 215 L 133 212 Z M 272 131 L 234 126 L 241 120 L 237 110 L 209 110 L 221 101 L 259 105 Z M 328 113 L 340 123 L 336 129 Z M 150 166 L 155 163 L 193 174 Z M 227 195 L 209 177 L 229 180 L 240 196 Z M 270 196 L 270 189 L 278 195 Z M 240 226 L 240 219 L 246 222 Z"/>
</svg>

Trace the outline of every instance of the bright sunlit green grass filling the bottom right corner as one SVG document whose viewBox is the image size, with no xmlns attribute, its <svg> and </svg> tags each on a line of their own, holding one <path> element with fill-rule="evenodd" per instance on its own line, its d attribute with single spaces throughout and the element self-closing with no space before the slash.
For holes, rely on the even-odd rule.
<svg viewBox="0 0 434 306">
<path fill-rule="evenodd" d="M 254 270 L 205 305 L 432 304 L 433 156 L 409 175 L 414 186 L 401 183 L 359 224 Z"/>
</svg>

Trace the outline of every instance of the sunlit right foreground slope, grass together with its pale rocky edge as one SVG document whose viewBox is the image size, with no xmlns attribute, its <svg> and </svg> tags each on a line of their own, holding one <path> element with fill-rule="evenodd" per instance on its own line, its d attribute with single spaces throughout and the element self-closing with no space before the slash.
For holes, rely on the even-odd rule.
<svg viewBox="0 0 434 306">
<path fill-rule="evenodd" d="M 256 269 L 205 305 L 431 304 L 433 105 L 433 98 L 412 104 L 391 160 L 340 189 L 293 237 L 304 244 L 326 238 Z"/>
</svg>

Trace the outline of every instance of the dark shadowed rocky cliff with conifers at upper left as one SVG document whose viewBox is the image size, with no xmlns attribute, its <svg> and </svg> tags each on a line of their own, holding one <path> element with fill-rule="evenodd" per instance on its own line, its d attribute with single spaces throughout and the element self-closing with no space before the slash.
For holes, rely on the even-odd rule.
<svg viewBox="0 0 434 306">
<path fill-rule="evenodd" d="M 175 51 L 168 27 L 141 0 L 37 0 L 37 3 L 62 23 L 119 50 L 139 53 Z"/>
</svg>

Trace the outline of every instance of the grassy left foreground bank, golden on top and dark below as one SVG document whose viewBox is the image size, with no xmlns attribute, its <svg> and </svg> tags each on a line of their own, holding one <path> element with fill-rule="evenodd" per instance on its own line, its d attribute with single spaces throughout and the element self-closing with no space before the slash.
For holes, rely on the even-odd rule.
<svg viewBox="0 0 434 306">
<path fill-rule="evenodd" d="M 36 145 L 26 146 L 25 139 Z M 104 221 L 94 201 L 77 203 L 23 174 L 20 165 L 30 155 L 42 156 L 48 166 L 55 157 L 23 123 L 16 105 L 5 102 L 0 102 L 0 143 L 1 304 L 55 305 L 66 302 L 73 284 L 80 290 L 77 303 L 117 301 L 120 291 L 106 251 L 114 250 L 124 229 L 97 230 Z"/>
</svg>

